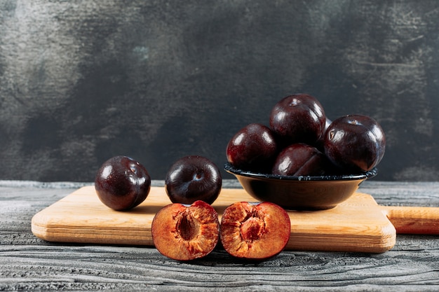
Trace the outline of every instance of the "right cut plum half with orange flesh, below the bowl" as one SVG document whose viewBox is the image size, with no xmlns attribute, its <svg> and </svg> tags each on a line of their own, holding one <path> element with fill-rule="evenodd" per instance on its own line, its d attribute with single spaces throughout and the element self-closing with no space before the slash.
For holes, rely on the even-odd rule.
<svg viewBox="0 0 439 292">
<path fill-rule="evenodd" d="M 224 210 L 219 230 L 222 246 L 231 256 L 263 260 L 285 248 L 290 216 L 272 202 L 236 202 Z"/>
</svg>

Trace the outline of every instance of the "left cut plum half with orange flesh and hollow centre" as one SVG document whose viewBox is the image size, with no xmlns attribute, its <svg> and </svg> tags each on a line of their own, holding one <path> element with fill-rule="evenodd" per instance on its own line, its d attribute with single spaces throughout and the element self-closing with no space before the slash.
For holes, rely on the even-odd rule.
<svg viewBox="0 0 439 292">
<path fill-rule="evenodd" d="M 154 216 L 151 233 L 163 256 L 174 260 L 203 258 L 219 240 L 218 213 L 203 201 L 168 204 Z"/>
</svg>

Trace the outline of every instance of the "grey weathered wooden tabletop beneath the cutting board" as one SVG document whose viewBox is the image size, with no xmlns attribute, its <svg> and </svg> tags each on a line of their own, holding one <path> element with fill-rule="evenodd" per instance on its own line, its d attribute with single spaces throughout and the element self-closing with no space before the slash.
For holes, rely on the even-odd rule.
<svg viewBox="0 0 439 292">
<path fill-rule="evenodd" d="M 181 263 L 151 247 L 34 237 L 32 216 L 84 184 L 0 181 L 0 291 L 439 291 L 437 235 L 398 235 L 385 253 L 284 251 L 259 263 L 222 249 Z M 383 205 L 439 207 L 439 182 L 366 181 L 360 191 Z"/>
</svg>

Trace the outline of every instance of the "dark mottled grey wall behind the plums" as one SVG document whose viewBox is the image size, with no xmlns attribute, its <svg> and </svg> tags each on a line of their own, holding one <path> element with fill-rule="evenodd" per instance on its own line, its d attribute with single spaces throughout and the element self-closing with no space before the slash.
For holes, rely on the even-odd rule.
<svg viewBox="0 0 439 292">
<path fill-rule="evenodd" d="M 93 181 L 118 154 L 152 179 L 222 167 L 295 92 L 379 121 L 377 179 L 438 181 L 439 1 L 0 0 L 0 179 Z"/>
</svg>

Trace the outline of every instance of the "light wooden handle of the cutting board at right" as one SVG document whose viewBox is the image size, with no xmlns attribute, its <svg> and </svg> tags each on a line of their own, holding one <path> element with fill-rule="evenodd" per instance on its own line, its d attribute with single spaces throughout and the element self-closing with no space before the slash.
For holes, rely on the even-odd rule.
<svg viewBox="0 0 439 292">
<path fill-rule="evenodd" d="M 401 234 L 439 235 L 439 207 L 381 206 Z"/>
</svg>

